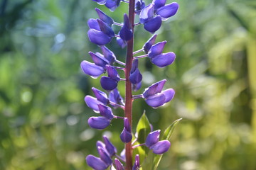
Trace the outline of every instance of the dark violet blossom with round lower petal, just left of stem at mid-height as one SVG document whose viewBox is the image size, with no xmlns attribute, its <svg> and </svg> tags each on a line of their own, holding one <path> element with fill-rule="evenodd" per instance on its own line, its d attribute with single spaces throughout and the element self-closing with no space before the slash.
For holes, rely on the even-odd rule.
<svg viewBox="0 0 256 170">
<path fill-rule="evenodd" d="M 110 66 L 106 65 L 107 68 L 107 75 L 108 77 L 102 77 L 100 79 L 100 84 L 103 89 L 107 91 L 112 91 L 117 87 L 118 81 L 120 80 L 119 74 L 117 73 L 117 70 Z"/>
</svg>

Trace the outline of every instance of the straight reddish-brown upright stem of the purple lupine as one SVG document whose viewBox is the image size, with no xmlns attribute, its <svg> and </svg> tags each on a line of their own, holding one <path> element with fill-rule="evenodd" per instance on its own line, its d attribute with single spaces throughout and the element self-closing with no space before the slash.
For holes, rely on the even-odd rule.
<svg viewBox="0 0 256 170">
<path fill-rule="evenodd" d="M 129 0 L 129 23 L 132 26 L 132 33 L 134 35 L 134 8 L 135 0 Z M 129 74 L 132 69 L 133 60 L 133 48 L 134 48 L 134 37 L 127 42 L 127 57 L 125 67 L 125 109 L 124 115 L 129 120 L 132 131 L 132 83 L 129 81 Z M 132 170 L 132 142 L 128 142 L 125 145 L 125 158 L 126 158 L 126 170 Z"/>
</svg>

